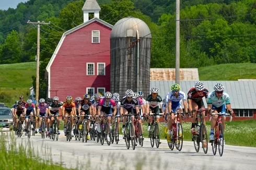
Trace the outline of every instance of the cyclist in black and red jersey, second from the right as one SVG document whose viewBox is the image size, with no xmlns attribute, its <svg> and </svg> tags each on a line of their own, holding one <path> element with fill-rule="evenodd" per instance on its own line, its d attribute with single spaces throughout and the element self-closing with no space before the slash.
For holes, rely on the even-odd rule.
<svg viewBox="0 0 256 170">
<path fill-rule="evenodd" d="M 188 105 L 189 105 L 189 112 L 192 113 L 192 110 L 198 110 L 199 108 L 205 108 L 204 102 L 203 102 L 203 97 L 205 97 L 206 102 L 207 102 L 207 95 L 208 95 L 208 90 L 205 89 L 204 83 L 202 81 L 197 81 L 195 83 L 195 87 L 191 88 L 188 92 Z M 192 113 L 192 116 L 195 114 Z M 203 119 L 205 117 L 205 112 L 203 114 Z M 196 135 L 195 131 L 195 118 L 196 116 L 193 116 L 191 121 L 191 133 L 193 135 Z M 204 119 L 204 124 L 205 124 L 205 119 Z"/>
</svg>

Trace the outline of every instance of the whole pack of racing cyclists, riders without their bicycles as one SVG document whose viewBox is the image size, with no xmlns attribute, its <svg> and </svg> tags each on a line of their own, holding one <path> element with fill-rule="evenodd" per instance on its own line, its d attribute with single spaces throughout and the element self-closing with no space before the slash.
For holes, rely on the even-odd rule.
<svg viewBox="0 0 256 170">
<path fill-rule="evenodd" d="M 64 102 L 59 101 L 59 97 L 54 96 L 52 99 L 40 99 L 37 110 L 37 103 L 32 100 L 24 101 L 24 97 L 20 96 L 19 101 L 16 101 L 15 105 L 12 107 L 14 122 L 18 123 L 19 119 L 17 117 L 21 117 L 21 123 L 24 124 L 22 126 L 27 129 L 28 125 L 28 117 L 29 116 L 39 116 L 39 119 L 36 118 L 37 127 L 36 133 L 41 132 L 41 122 L 42 117 L 44 118 L 45 125 L 47 128 L 46 135 L 49 132 L 52 132 L 52 124 L 53 124 L 53 116 L 79 116 L 79 129 L 82 129 L 81 123 L 84 120 L 85 115 L 91 115 L 91 117 L 99 117 L 100 115 L 105 114 L 107 116 L 107 123 L 110 125 L 113 117 L 118 117 L 118 127 L 120 123 L 120 117 L 123 117 L 123 127 L 122 132 L 124 133 L 124 124 L 127 121 L 127 114 L 138 114 L 138 123 L 142 127 L 142 117 L 149 117 L 149 113 L 159 114 L 160 112 L 164 113 L 165 120 L 165 128 L 164 131 L 166 133 L 167 141 L 171 141 L 172 136 L 172 122 L 174 119 L 175 112 L 184 112 L 192 117 L 191 119 L 191 133 L 196 135 L 195 130 L 195 111 L 199 108 L 205 108 L 203 98 L 206 99 L 207 102 L 207 110 L 208 113 L 219 113 L 226 112 L 233 114 L 234 112 L 231 109 L 229 95 L 224 92 L 224 85 L 221 83 L 217 83 L 214 86 L 213 91 L 210 93 L 205 88 L 204 83 L 202 81 L 198 81 L 195 83 L 194 87 L 192 87 L 186 96 L 186 93 L 181 91 L 180 85 L 177 83 L 172 84 L 171 91 L 168 92 L 164 96 L 164 100 L 162 100 L 161 96 L 158 94 L 159 89 L 157 87 L 152 87 L 150 89 L 150 94 L 146 96 L 144 99 L 144 94 L 142 91 L 134 92 L 131 89 L 127 89 L 125 92 L 125 96 L 120 98 L 119 93 L 111 93 L 106 92 L 102 96 L 101 94 L 94 94 L 90 96 L 89 94 L 84 94 L 83 99 L 79 96 L 76 96 L 75 101 L 73 101 L 72 96 L 67 95 L 66 100 Z M 182 107 L 183 105 L 183 107 Z M 180 115 L 181 116 L 181 115 Z M 205 117 L 205 113 L 203 114 L 203 119 Z M 65 123 L 64 126 L 64 135 L 66 135 L 66 122 L 67 118 L 62 117 Z M 157 116 L 157 121 L 159 122 L 160 116 Z M 31 118 L 32 119 L 32 118 Z M 182 117 L 180 117 L 182 120 Z M 211 120 L 211 132 L 210 132 L 210 141 L 214 140 L 214 125 L 216 123 L 217 116 L 213 116 Z M 223 124 L 225 125 L 226 117 L 223 116 Z M 71 126 L 73 127 L 72 136 L 74 136 L 75 130 L 73 125 L 76 124 L 76 119 L 71 119 Z M 132 117 L 132 122 L 134 121 L 134 117 Z M 24 123 L 25 122 L 25 123 Z M 150 131 L 150 123 L 152 119 L 147 119 L 148 128 Z M 205 124 L 205 119 L 204 119 Z M 17 126 L 17 124 L 16 124 Z M 60 126 L 60 119 L 57 117 L 57 127 Z M 96 118 L 95 130 L 99 126 L 98 119 Z M 38 128 L 39 127 L 39 128 Z M 87 129 L 92 128 L 90 126 L 90 119 L 87 119 Z M 143 128 L 141 128 L 143 129 Z M 225 129 L 225 126 L 224 126 Z M 59 132 L 60 133 L 60 132 Z M 26 135 L 26 133 L 25 133 Z M 90 139 L 90 135 L 88 133 L 87 139 Z M 109 136 L 107 136 L 107 140 L 109 140 Z M 203 141 L 204 142 L 204 141 Z"/>
</svg>

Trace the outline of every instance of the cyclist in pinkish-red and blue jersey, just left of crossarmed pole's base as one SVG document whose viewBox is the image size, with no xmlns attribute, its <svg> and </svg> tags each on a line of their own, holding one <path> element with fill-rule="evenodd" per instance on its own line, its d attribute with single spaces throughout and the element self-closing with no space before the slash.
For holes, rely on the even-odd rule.
<svg viewBox="0 0 256 170">
<path fill-rule="evenodd" d="M 28 130 L 28 118 L 30 117 L 30 121 L 33 122 L 33 115 L 36 115 L 36 106 L 34 105 L 34 103 L 32 103 L 31 99 L 27 100 L 27 103 L 25 104 L 25 108 L 26 108 L 26 117 L 25 117 L 25 127 L 26 127 L 26 132 L 25 132 L 25 136 L 27 136 L 27 130 Z M 33 129 L 33 124 L 31 124 L 31 129 Z M 35 127 L 36 128 L 36 127 Z M 35 133 L 37 133 L 37 130 L 35 131 Z"/>
</svg>

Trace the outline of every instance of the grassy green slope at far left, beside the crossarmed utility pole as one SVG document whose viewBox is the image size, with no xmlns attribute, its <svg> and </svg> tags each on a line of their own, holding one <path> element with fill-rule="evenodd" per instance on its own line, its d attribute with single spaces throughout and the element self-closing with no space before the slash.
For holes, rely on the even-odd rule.
<svg viewBox="0 0 256 170">
<path fill-rule="evenodd" d="M 20 95 L 28 99 L 36 76 L 36 62 L 0 65 L 0 102 L 12 106 Z"/>
</svg>

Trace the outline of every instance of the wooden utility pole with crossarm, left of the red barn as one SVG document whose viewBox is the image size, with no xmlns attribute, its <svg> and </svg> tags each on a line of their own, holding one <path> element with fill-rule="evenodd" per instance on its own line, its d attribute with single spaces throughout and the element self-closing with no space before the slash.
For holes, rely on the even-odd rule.
<svg viewBox="0 0 256 170">
<path fill-rule="evenodd" d="M 40 25 L 50 25 L 51 22 L 45 23 L 44 21 L 40 22 L 31 22 L 28 20 L 27 23 L 37 24 L 37 79 L 36 79 L 36 101 L 38 103 L 39 96 L 39 55 L 40 55 Z"/>
</svg>

